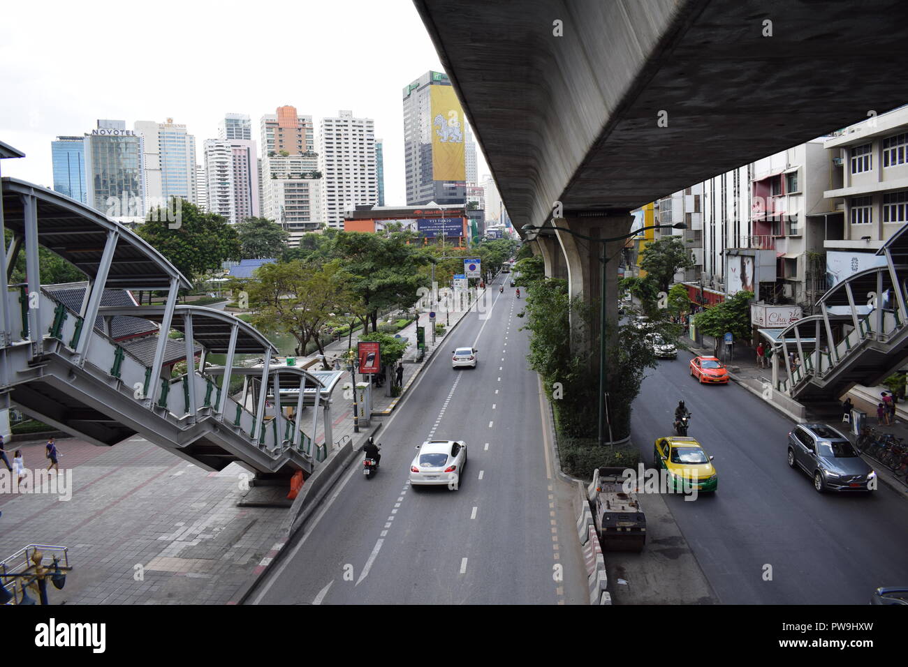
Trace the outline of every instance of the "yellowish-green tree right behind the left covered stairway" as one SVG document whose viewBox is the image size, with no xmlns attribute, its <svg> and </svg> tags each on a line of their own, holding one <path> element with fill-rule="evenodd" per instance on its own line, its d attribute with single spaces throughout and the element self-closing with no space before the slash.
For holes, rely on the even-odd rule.
<svg viewBox="0 0 908 667">
<path fill-rule="evenodd" d="M 321 332 L 336 313 L 347 312 L 356 298 L 350 290 L 350 276 L 339 261 L 312 269 L 301 261 L 265 264 L 244 281 L 250 306 L 255 309 L 252 325 L 278 330 L 296 338 L 296 354 L 306 354 L 314 342 L 322 357 L 325 351 Z M 322 359 L 324 367 L 327 360 Z"/>
</svg>

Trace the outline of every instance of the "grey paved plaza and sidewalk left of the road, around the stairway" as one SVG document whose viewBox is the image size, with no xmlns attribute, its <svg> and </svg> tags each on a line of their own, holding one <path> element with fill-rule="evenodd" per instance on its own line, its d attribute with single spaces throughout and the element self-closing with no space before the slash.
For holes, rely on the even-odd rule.
<svg viewBox="0 0 908 667">
<path fill-rule="evenodd" d="M 451 312 L 447 330 L 465 314 Z M 428 312 L 419 324 L 427 327 L 429 347 L 423 362 L 404 364 L 405 390 L 445 344 L 440 337 L 431 345 Z M 415 346 L 415 323 L 400 333 Z M 329 346 L 346 348 L 346 339 Z M 332 395 L 335 443 L 354 436 L 343 384 Z M 373 418 L 390 414 L 398 400 L 376 390 Z M 320 424 L 316 442 L 323 440 Z M 26 468 L 46 466 L 44 439 L 7 446 L 23 450 Z M 72 476 L 71 499 L 48 493 L 49 486 L 44 493 L 0 493 L 0 559 L 26 544 L 69 547 L 74 571 L 63 591 L 51 589 L 51 603 L 236 602 L 286 539 L 286 509 L 237 505 L 250 476 L 242 466 L 211 473 L 139 437 L 114 447 L 61 438 L 57 447 L 64 479 Z M 12 452 L 7 456 L 12 460 Z"/>
</svg>

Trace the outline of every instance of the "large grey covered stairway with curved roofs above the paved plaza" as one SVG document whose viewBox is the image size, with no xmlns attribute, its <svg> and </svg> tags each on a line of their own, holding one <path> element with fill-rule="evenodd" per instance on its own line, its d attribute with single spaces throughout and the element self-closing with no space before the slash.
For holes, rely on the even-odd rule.
<svg viewBox="0 0 908 667">
<path fill-rule="evenodd" d="M 313 440 L 321 417 L 331 443 L 330 397 L 340 371 L 272 363 L 275 348 L 246 322 L 177 305 L 178 290 L 192 286 L 133 231 L 33 183 L 0 182 L 0 238 L 12 232 L 0 251 L 0 408 L 17 407 L 99 446 L 143 436 L 210 470 L 236 461 L 262 474 L 308 475 L 324 460 L 327 446 Z M 41 285 L 39 247 L 84 272 L 81 304 L 73 289 Z M 27 279 L 11 285 L 20 253 Z M 130 289 L 166 291 L 167 301 L 104 305 L 134 304 L 110 299 Z M 133 319 L 147 320 L 138 329 L 151 333 L 115 338 L 117 323 Z M 169 338 L 173 329 L 183 339 Z M 212 366 L 212 355 L 222 355 L 222 365 Z M 178 360 L 186 362 L 182 374 L 173 372 Z M 288 387 L 295 388 L 291 417 L 278 407 L 285 399 L 273 400 Z"/>
</svg>

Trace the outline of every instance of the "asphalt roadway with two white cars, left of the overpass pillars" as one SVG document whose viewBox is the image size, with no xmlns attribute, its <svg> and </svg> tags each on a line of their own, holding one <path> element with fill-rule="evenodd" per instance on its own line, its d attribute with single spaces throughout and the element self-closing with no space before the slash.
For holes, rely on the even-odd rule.
<svg viewBox="0 0 908 667">
<path fill-rule="evenodd" d="M 548 461 L 518 331 L 524 300 L 500 281 L 489 317 L 469 313 L 385 420 L 378 474 L 355 459 L 253 603 L 588 603 L 571 488 Z M 447 348 L 470 345 L 478 368 L 452 369 Z M 429 437 L 466 441 L 458 490 L 410 487 Z"/>
</svg>

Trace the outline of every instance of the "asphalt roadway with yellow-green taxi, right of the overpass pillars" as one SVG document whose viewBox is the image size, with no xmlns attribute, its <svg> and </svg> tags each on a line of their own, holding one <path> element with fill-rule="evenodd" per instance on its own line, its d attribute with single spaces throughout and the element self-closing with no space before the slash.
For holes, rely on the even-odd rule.
<svg viewBox="0 0 908 667">
<path fill-rule="evenodd" d="M 720 602 L 865 604 L 878 586 L 908 584 L 904 500 L 882 484 L 870 495 L 818 494 L 785 461 L 793 422 L 734 382 L 699 385 L 691 358 L 680 350 L 647 371 L 632 429 L 652 465 L 683 398 L 689 435 L 715 456 L 715 496 L 664 497 Z"/>
</svg>

